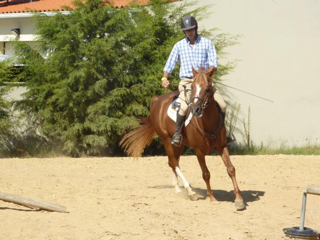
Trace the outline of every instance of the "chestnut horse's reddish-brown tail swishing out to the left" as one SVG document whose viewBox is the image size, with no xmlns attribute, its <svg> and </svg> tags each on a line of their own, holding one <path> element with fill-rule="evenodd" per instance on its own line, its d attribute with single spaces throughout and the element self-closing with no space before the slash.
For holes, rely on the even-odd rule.
<svg viewBox="0 0 320 240">
<path fill-rule="evenodd" d="M 154 97 L 150 103 L 150 111 L 157 101 L 158 97 Z M 120 141 L 120 146 L 124 148 L 127 155 L 139 158 L 143 149 L 149 145 L 156 135 L 156 130 L 151 123 L 150 116 L 140 119 L 140 126 L 127 133 Z"/>
</svg>

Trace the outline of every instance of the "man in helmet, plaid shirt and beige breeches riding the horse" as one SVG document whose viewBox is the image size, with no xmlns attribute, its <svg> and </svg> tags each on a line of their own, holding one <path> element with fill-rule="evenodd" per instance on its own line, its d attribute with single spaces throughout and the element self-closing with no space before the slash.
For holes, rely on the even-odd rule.
<svg viewBox="0 0 320 240">
<path fill-rule="evenodd" d="M 176 130 L 172 139 L 172 144 L 176 146 L 181 146 L 181 129 L 188 111 L 188 103 L 191 100 L 191 83 L 193 81 L 192 68 L 195 68 L 196 70 L 200 67 L 205 69 L 214 68 L 214 72 L 216 72 L 218 68 L 215 46 L 210 39 L 198 35 L 197 20 L 193 16 L 183 17 L 181 20 L 181 30 L 186 37 L 178 41 L 172 49 L 164 66 L 163 77 L 161 79 L 162 87 L 167 88 L 170 84 L 168 77 L 180 59 L 179 76 L 181 81 L 179 83 L 179 98 L 181 99 L 181 103 L 179 111 L 177 112 Z M 221 108 L 224 120 L 227 105 L 215 87 L 214 98 Z"/>
</svg>

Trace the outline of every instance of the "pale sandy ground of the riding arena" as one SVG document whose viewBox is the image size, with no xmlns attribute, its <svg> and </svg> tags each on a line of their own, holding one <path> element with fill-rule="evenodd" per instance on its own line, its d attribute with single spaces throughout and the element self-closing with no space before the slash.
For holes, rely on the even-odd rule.
<svg viewBox="0 0 320 240">
<path fill-rule="evenodd" d="M 0 239 L 282 239 L 300 225 L 303 189 L 320 186 L 320 156 L 231 156 L 247 203 L 237 211 L 221 158 L 206 161 L 219 204 L 195 156 L 180 166 L 198 201 L 175 193 L 166 157 L 0 159 L 1 192 L 67 207 L 0 201 Z M 308 194 L 305 226 L 320 230 L 320 196 Z"/>
</svg>

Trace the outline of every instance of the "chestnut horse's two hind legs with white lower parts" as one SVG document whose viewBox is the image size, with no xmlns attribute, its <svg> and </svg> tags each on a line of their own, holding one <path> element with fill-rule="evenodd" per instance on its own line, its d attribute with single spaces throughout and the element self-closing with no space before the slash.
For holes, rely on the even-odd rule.
<svg viewBox="0 0 320 240">
<path fill-rule="evenodd" d="M 181 152 L 183 150 L 183 146 L 181 146 L 181 147 L 173 146 L 170 141 L 171 141 L 171 139 L 169 140 L 169 142 L 163 141 L 163 145 L 164 145 L 165 151 L 167 152 L 167 155 L 168 155 L 169 166 L 172 168 L 172 170 L 174 172 L 173 185 L 175 186 L 175 189 L 177 191 L 176 186 L 179 188 L 179 185 L 178 185 L 178 178 L 176 176 L 179 176 L 179 178 L 183 182 L 184 188 L 186 188 L 188 191 L 189 199 L 190 200 L 198 200 L 199 198 L 198 198 L 197 193 L 191 189 L 190 184 L 188 183 L 188 181 L 186 180 L 186 178 L 182 174 L 180 167 L 179 167 L 179 159 L 180 159 Z M 179 190 L 180 190 L 180 188 L 179 188 Z"/>
</svg>

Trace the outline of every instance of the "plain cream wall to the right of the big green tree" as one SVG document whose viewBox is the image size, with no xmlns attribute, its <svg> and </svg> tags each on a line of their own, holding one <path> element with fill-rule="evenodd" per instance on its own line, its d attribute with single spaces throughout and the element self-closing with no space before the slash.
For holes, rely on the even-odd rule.
<svg viewBox="0 0 320 240">
<path fill-rule="evenodd" d="M 229 102 L 241 104 L 238 122 L 251 109 L 254 143 L 316 143 L 320 137 L 320 1 L 318 0 L 200 0 L 214 4 L 200 28 L 241 34 L 226 59 L 240 59 L 223 83 L 274 103 L 229 89 Z M 307 139 L 307 140 L 306 140 Z M 317 142 L 318 143 L 318 142 Z"/>
</svg>

